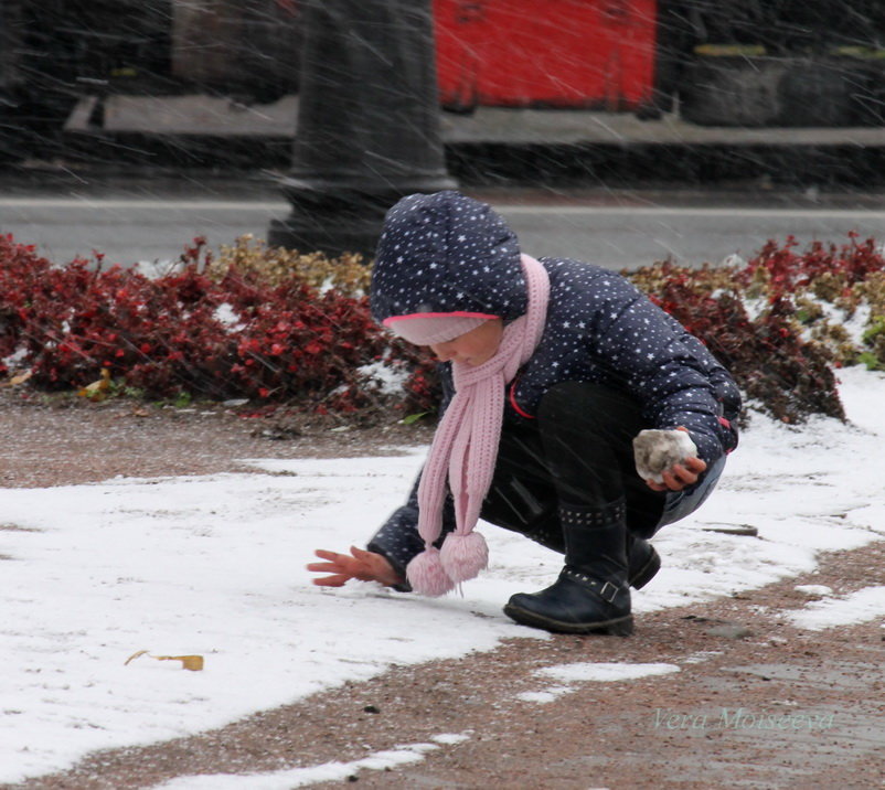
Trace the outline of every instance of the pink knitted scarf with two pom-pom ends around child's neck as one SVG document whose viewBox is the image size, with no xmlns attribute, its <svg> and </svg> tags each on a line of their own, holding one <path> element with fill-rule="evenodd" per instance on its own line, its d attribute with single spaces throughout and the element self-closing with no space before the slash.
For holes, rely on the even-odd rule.
<svg viewBox="0 0 885 790">
<path fill-rule="evenodd" d="M 529 291 L 525 314 L 504 327 L 498 352 L 488 362 L 452 362 L 455 396 L 436 429 L 418 485 L 418 534 L 425 549 L 406 567 L 412 588 L 422 595 L 445 595 L 489 564 L 486 540 L 473 527 L 494 473 L 507 384 L 537 348 L 550 298 L 544 267 L 527 255 L 521 261 Z M 433 544 L 442 532 L 447 476 L 456 529 L 437 549 Z"/>
</svg>

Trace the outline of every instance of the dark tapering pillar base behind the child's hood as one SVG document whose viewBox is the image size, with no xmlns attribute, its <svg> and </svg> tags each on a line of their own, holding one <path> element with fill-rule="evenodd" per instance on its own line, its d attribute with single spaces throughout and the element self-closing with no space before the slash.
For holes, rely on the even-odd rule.
<svg viewBox="0 0 885 790">
<path fill-rule="evenodd" d="M 439 138 L 430 0 L 309 0 L 291 214 L 268 243 L 371 255 L 386 210 L 450 189 Z"/>
</svg>

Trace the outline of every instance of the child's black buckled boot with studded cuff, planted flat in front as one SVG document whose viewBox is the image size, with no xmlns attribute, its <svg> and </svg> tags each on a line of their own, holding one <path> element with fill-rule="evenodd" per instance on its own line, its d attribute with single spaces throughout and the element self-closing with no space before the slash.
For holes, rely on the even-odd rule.
<svg viewBox="0 0 885 790">
<path fill-rule="evenodd" d="M 547 631 L 632 633 L 625 515 L 622 499 L 605 508 L 562 508 L 565 567 L 559 578 L 540 592 L 512 596 L 504 613 Z"/>
</svg>

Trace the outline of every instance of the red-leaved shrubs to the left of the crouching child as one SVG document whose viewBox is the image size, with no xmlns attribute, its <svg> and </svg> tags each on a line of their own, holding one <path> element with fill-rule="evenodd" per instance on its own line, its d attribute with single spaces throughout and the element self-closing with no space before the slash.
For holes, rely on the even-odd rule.
<svg viewBox="0 0 885 790">
<path fill-rule="evenodd" d="M 376 327 L 365 298 L 321 293 L 297 273 L 269 285 L 232 268 L 216 281 L 202 271 L 203 244 L 185 250 L 180 271 L 151 279 L 102 269 L 100 258 L 54 268 L 0 237 L 0 357 L 18 351 L 45 389 L 84 386 L 106 369 L 148 397 L 245 396 L 340 412 L 378 398 L 360 367 L 422 362 Z M 387 405 L 426 410 L 430 397 L 416 373 Z"/>
</svg>

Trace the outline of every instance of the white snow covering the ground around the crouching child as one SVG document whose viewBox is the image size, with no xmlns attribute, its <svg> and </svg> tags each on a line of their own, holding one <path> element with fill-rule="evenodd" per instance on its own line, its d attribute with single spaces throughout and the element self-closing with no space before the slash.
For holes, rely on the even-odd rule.
<svg viewBox="0 0 885 790">
<path fill-rule="evenodd" d="M 813 569 L 820 551 L 885 535 L 885 375 L 849 370 L 841 378 L 847 426 L 820 418 L 796 429 L 754 418 L 707 504 L 655 537 L 665 569 L 635 595 L 637 611 L 758 587 Z M 252 474 L 3 491 L 0 782 L 71 766 L 94 749 L 217 727 L 396 664 L 491 650 L 503 638 L 544 639 L 510 622 L 501 605 L 548 584 L 558 557 L 488 525 L 490 568 L 465 585 L 463 597 L 309 583 L 312 549 L 364 541 L 399 504 L 420 461 L 414 451 L 257 460 Z M 740 525 L 759 537 L 710 531 Z M 793 613 L 797 624 L 885 616 L 885 588 L 821 592 L 823 600 Z M 150 655 L 125 664 L 140 650 Z M 203 671 L 151 658 L 190 654 L 204 658 Z M 676 670 L 558 668 L 540 680 L 534 702 L 576 680 Z M 440 733 L 362 767 L 415 761 L 463 737 Z M 172 784 L 295 787 L 359 767 Z"/>
</svg>

